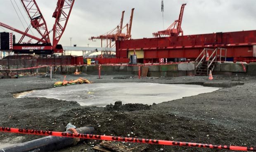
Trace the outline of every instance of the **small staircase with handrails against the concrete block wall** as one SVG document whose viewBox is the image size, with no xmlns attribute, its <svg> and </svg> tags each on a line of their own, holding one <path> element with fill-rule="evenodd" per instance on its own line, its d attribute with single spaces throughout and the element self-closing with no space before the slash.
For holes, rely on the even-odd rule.
<svg viewBox="0 0 256 152">
<path fill-rule="evenodd" d="M 222 50 L 225 50 L 225 56 L 222 55 Z M 209 56 L 209 53 L 211 55 Z M 204 50 L 200 53 L 200 55 L 195 60 L 195 76 L 208 76 L 210 70 L 213 71 L 216 63 L 221 62 L 221 58 L 227 57 L 227 49 L 226 48 L 204 48 Z M 201 59 L 200 59 L 201 58 Z M 219 59 L 217 61 L 217 58 Z M 200 59 L 200 60 L 199 60 Z"/>
</svg>

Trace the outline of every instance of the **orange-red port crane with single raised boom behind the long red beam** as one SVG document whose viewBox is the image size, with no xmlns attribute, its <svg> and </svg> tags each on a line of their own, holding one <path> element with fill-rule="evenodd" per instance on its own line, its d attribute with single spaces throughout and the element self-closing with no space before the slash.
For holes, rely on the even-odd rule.
<svg viewBox="0 0 256 152">
<path fill-rule="evenodd" d="M 154 37 L 179 36 L 180 33 L 183 36 L 183 30 L 181 29 L 181 23 L 182 23 L 185 5 L 186 4 L 181 5 L 179 19 L 175 20 L 166 30 L 153 33 Z"/>
</svg>

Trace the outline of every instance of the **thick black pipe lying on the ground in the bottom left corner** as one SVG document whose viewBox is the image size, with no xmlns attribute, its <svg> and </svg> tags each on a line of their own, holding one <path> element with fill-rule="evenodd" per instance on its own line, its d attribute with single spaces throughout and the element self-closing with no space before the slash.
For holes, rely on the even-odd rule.
<svg viewBox="0 0 256 152">
<path fill-rule="evenodd" d="M 82 127 L 76 129 L 81 134 L 92 134 L 93 127 Z M 66 131 L 72 133 L 71 131 Z M 49 152 L 73 145 L 74 138 L 47 136 L 25 143 L 16 144 L 0 149 L 0 152 Z"/>
</svg>

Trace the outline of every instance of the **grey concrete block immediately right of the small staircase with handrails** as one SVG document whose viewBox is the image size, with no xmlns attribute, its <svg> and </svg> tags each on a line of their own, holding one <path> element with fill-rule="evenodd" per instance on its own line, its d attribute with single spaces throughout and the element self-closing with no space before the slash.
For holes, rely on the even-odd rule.
<svg viewBox="0 0 256 152">
<path fill-rule="evenodd" d="M 244 67 L 245 67 L 245 71 L 244 71 Z M 233 62 L 224 62 L 220 65 L 220 71 L 222 72 L 241 72 L 241 73 L 245 73 L 246 72 L 246 68 L 247 68 L 247 64 L 244 62 L 242 65 L 241 62 L 237 62 L 237 63 L 233 63 Z"/>
</svg>

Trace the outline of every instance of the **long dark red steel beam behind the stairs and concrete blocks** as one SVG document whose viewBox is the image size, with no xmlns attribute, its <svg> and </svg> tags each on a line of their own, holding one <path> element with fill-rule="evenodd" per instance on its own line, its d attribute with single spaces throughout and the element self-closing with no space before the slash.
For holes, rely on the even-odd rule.
<svg viewBox="0 0 256 152">
<path fill-rule="evenodd" d="M 227 57 L 253 57 L 256 30 L 116 41 L 116 57 L 143 50 L 145 59 L 197 58 L 203 48 L 227 48 Z M 256 53 L 256 52 L 255 52 Z"/>
</svg>

